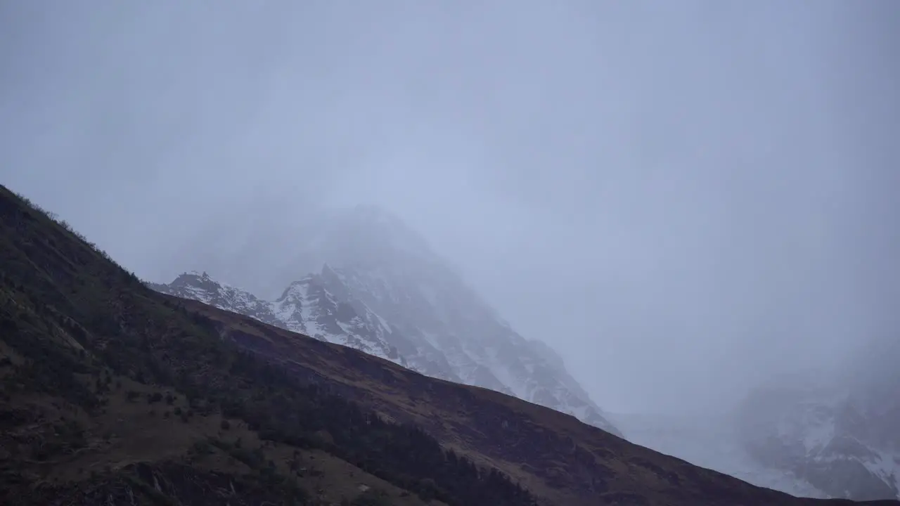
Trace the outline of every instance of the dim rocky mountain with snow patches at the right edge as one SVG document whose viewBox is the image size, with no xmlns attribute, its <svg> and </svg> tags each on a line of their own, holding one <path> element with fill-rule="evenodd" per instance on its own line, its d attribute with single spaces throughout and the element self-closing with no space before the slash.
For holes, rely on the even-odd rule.
<svg viewBox="0 0 900 506">
<path fill-rule="evenodd" d="M 795 474 L 831 497 L 900 499 L 900 382 L 894 364 L 860 364 L 856 380 L 837 376 L 761 386 L 736 416 L 743 447 L 758 463 Z"/>
</svg>

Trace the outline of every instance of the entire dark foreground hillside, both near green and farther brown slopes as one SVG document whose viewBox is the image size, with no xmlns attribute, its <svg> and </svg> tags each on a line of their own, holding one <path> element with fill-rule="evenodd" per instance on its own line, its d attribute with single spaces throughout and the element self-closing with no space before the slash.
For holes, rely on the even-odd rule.
<svg viewBox="0 0 900 506">
<path fill-rule="evenodd" d="M 0 424 L 10 505 L 825 504 L 159 294 L 3 187 Z"/>
</svg>

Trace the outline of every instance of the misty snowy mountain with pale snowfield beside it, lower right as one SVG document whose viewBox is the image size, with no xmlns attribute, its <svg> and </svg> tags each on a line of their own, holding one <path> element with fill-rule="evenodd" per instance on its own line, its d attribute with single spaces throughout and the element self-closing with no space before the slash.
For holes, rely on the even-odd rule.
<svg viewBox="0 0 900 506">
<path fill-rule="evenodd" d="M 719 413 L 612 414 L 624 436 L 805 497 L 900 499 L 900 346 L 881 339 L 840 366 L 773 375 Z"/>
</svg>

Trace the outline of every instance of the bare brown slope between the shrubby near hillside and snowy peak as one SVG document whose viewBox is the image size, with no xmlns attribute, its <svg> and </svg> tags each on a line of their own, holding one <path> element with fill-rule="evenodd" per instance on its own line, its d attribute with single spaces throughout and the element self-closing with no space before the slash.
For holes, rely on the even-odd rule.
<svg viewBox="0 0 900 506">
<path fill-rule="evenodd" d="M 756 487 L 637 446 L 570 415 L 516 397 L 430 378 L 352 348 L 197 301 L 172 299 L 217 321 L 223 338 L 395 420 L 410 420 L 425 427 L 443 444 L 477 462 L 500 468 L 550 503 L 843 503 L 800 499 Z"/>
</svg>

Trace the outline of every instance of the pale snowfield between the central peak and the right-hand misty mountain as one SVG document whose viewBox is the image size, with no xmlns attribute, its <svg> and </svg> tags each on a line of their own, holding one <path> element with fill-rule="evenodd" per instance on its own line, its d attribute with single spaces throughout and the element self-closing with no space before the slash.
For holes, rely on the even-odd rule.
<svg viewBox="0 0 900 506">
<path fill-rule="evenodd" d="M 626 439 L 643 447 L 730 474 L 757 486 L 800 497 L 828 497 L 805 479 L 762 465 L 752 458 L 742 446 L 730 420 L 651 414 L 609 416 L 625 433 Z"/>
</svg>

